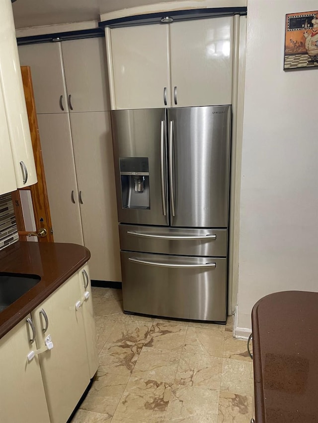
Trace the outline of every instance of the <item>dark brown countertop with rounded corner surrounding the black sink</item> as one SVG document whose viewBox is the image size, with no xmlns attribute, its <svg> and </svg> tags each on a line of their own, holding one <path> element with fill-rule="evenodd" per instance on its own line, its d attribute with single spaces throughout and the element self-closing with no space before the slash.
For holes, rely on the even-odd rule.
<svg viewBox="0 0 318 423">
<path fill-rule="evenodd" d="M 32 289 L 0 312 L 0 338 L 90 258 L 87 248 L 56 242 L 15 242 L 0 251 L 0 272 L 38 275 Z"/>
</svg>

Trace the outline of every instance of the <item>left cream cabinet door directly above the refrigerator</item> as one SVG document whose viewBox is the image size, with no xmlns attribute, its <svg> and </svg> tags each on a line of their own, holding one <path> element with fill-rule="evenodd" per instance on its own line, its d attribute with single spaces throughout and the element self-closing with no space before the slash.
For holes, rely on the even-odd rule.
<svg viewBox="0 0 318 423">
<path fill-rule="evenodd" d="M 170 105 L 168 25 L 111 30 L 116 109 Z"/>
</svg>

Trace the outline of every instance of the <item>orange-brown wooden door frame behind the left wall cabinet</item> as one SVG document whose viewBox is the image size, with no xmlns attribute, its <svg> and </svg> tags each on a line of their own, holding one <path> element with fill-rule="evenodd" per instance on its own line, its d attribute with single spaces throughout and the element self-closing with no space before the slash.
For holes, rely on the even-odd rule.
<svg viewBox="0 0 318 423">
<path fill-rule="evenodd" d="M 47 236 L 45 238 L 38 238 L 39 242 L 54 242 L 52 232 L 52 221 L 50 214 L 49 199 L 45 181 L 44 165 L 42 158 L 41 141 L 38 129 L 38 121 L 36 118 L 36 109 L 33 93 L 33 85 L 31 78 L 31 69 L 29 66 L 21 66 L 21 74 L 23 81 L 23 89 L 26 103 L 26 110 L 28 114 L 31 141 L 33 148 L 33 155 L 35 161 L 37 183 L 20 188 L 17 191 L 12 192 L 12 202 L 16 218 L 16 226 L 18 229 L 20 241 L 26 241 L 25 224 L 22 213 L 21 199 L 19 191 L 29 190 L 31 192 L 31 198 L 33 203 L 34 220 L 36 231 L 40 228 L 45 228 Z"/>
</svg>

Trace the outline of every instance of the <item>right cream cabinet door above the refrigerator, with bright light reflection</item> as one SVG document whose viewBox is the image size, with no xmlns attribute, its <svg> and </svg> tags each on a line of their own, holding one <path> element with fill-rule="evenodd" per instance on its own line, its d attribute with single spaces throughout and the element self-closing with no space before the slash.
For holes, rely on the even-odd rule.
<svg viewBox="0 0 318 423">
<path fill-rule="evenodd" d="M 172 106 L 232 104 L 233 16 L 169 27 Z"/>
</svg>

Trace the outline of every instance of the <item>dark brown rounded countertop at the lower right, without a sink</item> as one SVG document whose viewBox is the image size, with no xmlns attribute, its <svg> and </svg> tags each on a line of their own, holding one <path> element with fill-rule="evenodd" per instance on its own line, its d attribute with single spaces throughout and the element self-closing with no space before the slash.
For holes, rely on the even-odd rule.
<svg viewBox="0 0 318 423">
<path fill-rule="evenodd" d="M 252 331 L 256 423 L 317 423 L 318 293 L 262 298 Z"/>
</svg>

